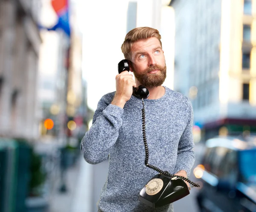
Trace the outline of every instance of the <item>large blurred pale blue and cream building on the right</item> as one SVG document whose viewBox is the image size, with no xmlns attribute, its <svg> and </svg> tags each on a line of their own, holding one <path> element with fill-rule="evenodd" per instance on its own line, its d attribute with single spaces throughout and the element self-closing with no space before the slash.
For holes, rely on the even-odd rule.
<svg viewBox="0 0 256 212">
<path fill-rule="evenodd" d="M 204 139 L 256 132 L 256 0 L 171 0 L 174 89 Z"/>
</svg>

